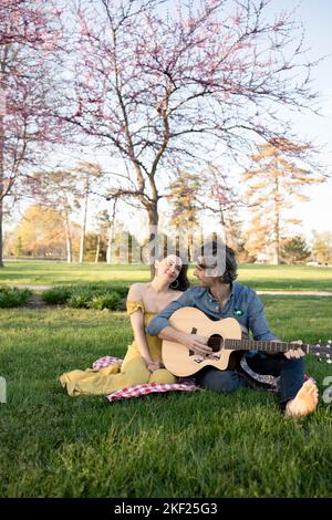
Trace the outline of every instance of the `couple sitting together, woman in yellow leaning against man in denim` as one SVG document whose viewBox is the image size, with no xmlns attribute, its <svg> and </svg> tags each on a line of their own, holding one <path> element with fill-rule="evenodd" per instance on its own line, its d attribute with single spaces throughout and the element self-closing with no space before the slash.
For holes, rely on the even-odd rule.
<svg viewBox="0 0 332 520">
<path fill-rule="evenodd" d="M 255 340 L 280 341 L 269 330 L 256 292 L 235 282 L 234 250 L 219 241 L 210 241 L 199 252 L 194 272 L 198 287 L 189 288 L 188 267 L 180 257 L 167 254 L 156 260 L 152 282 L 134 283 L 129 288 L 127 311 L 135 340 L 123 363 L 98 371 L 63 374 L 60 381 L 70 395 L 106 395 L 133 385 L 176 383 L 176 377 L 163 365 L 162 340 L 180 343 L 197 356 L 211 354 L 208 337 L 186 334 L 169 325 L 172 314 L 181 308 L 196 308 L 212 320 L 236 318 Z M 205 366 L 196 374 L 195 383 L 203 388 L 231 393 L 245 387 L 267 388 L 268 382 L 278 377 L 281 410 L 286 416 L 307 416 L 315 410 L 319 392 L 312 379 L 304 382 L 303 356 L 299 347 L 277 354 L 249 351 L 234 370 Z"/>
</svg>

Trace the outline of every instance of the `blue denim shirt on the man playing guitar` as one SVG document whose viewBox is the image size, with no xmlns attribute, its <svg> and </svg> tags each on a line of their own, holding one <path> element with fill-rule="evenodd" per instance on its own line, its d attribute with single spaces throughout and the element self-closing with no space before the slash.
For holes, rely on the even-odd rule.
<svg viewBox="0 0 332 520">
<path fill-rule="evenodd" d="M 211 320 L 235 318 L 252 333 L 253 340 L 270 341 L 278 339 L 269 329 L 263 314 L 263 304 L 257 293 L 241 283 L 232 284 L 231 294 L 224 309 L 219 308 L 218 301 L 208 289 L 201 287 L 187 289 L 178 300 L 169 303 L 148 323 L 147 334 L 158 335 L 165 326 L 169 326 L 168 319 L 172 314 L 183 306 L 199 309 Z"/>
</svg>

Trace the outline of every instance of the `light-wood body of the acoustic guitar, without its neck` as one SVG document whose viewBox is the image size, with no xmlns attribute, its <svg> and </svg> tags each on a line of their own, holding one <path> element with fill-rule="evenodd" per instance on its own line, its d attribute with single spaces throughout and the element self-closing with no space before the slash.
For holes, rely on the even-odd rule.
<svg viewBox="0 0 332 520">
<path fill-rule="evenodd" d="M 186 306 L 175 311 L 169 319 L 169 324 L 186 334 L 209 337 L 209 346 L 212 346 L 214 343 L 218 344 L 216 350 L 214 347 L 211 355 L 203 357 L 180 343 L 164 340 L 163 362 L 172 374 L 177 376 L 194 375 L 205 366 L 215 366 L 221 371 L 234 368 L 239 352 L 225 349 L 222 340 L 241 340 L 242 330 L 237 320 L 226 318 L 225 320 L 212 321 L 198 309 Z M 214 339 L 220 341 L 214 342 Z"/>
</svg>

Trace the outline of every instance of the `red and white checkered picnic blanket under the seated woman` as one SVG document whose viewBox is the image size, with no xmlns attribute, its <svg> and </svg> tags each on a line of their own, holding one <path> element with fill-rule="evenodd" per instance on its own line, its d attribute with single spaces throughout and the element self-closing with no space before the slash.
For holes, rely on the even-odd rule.
<svg viewBox="0 0 332 520">
<path fill-rule="evenodd" d="M 108 365 L 117 365 L 123 360 L 120 357 L 104 356 L 93 363 L 93 368 L 104 368 Z M 181 383 L 148 383 L 143 385 L 127 386 L 126 388 L 118 389 L 112 394 L 106 395 L 106 398 L 112 403 L 117 399 L 132 399 L 133 397 L 142 397 L 143 395 L 163 392 L 193 392 L 201 389 L 199 386 L 193 384 L 190 379 Z"/>
</svg>

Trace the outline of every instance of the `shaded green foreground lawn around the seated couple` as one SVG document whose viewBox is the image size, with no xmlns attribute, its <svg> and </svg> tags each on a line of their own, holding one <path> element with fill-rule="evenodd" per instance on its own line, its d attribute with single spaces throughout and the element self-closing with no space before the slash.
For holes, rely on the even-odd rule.
<svg viewBox="0 0 332 520">
<path fill-rule="evenodd" d="M 283 339 L 331 337 L 331 299 L 266 297 Z M 170 393 L 110 404 L 58 376 L 131 341 L 123 313 L 1 310 L 0 497 L 331 497 L 331 406 L 286 420 L 276 397 Z M 321 391 L 331 365 L 308 356 Z"/>
</svg>

